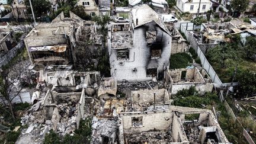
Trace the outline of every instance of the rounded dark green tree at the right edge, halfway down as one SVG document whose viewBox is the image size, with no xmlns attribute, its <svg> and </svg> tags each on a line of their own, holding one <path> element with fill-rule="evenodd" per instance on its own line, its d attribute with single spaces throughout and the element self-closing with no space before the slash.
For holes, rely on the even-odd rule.
<svg viewBox="0 0 256 144">
<path fill-rule="evenodd" d="M 238 74 L 239 93 L 243 96 L 252 97 L 256 94 L 256 73 L 243 71 Z"/>
</svg>

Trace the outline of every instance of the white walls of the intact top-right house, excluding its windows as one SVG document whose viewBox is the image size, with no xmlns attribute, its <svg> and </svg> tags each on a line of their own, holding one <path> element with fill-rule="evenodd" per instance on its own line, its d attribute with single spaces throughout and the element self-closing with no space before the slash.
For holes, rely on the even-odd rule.
<svg viewBox="0 0 256 144">
<path fill-rule="evenodd" d="M 180 1 L 180 3 L 179 3 Z M 179 5 L 180 4 L 180 5 Z M 197 9 L 199 8 L 199 1 L 193 1 L 193 2 L 186 2 L 183 3 L 181 0 L 177 0 L 176 3 L 177 7 L 182 11 L 182 12 L 190 12 L 192 14 L 197 13 Z M 193 10 L 190 10 L 190 5 L 194 5 Z M 203 5 L 206 5 L 206 8 L 203 9 Z M 204 13 L 210 10 L 210 7 L 212 5 L 212 2 L 208 0 L 202 0 L 200 4 L 200 11 L 199 13 Z"/>
</svg>

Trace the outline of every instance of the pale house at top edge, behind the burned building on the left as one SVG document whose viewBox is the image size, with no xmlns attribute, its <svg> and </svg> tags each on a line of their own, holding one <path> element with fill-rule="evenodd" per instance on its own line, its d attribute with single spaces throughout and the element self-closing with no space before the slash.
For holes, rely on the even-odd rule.
<svg viewBox="0 0 256 144">
<path fill-rule="evenodd" d="M 94 0 L 78 0 L 76 5 L 82 5 L 85 13 L 92 17 L 100 14 L 100 9 Z"/>
</svg>

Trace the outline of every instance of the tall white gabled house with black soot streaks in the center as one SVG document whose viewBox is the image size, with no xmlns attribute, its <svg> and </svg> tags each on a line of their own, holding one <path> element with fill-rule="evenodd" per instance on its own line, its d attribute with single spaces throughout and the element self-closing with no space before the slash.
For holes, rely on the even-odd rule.
<svg viewBox="0 0 256 144">
<path fill-rule="evenodd" d="M 148 5 L 130 11 L 130 23 L 108 28 L 111 76 L 117 81 L 163 79 L 169 68 L 171 34 Z"/>
</svg>

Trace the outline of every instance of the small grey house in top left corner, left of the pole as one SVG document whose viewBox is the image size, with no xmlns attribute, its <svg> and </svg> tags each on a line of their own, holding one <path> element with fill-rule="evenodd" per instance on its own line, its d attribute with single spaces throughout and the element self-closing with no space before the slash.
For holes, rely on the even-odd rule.
<svg viewBox="0 0 256 144">
<path fill-rule="evenodd" d="M 12 14 L 14 18 L 27 18 L 27 7 L 25 6 L 25 2 L 23 0 L 14 0 L 12 2 Z"/>
</svg>

